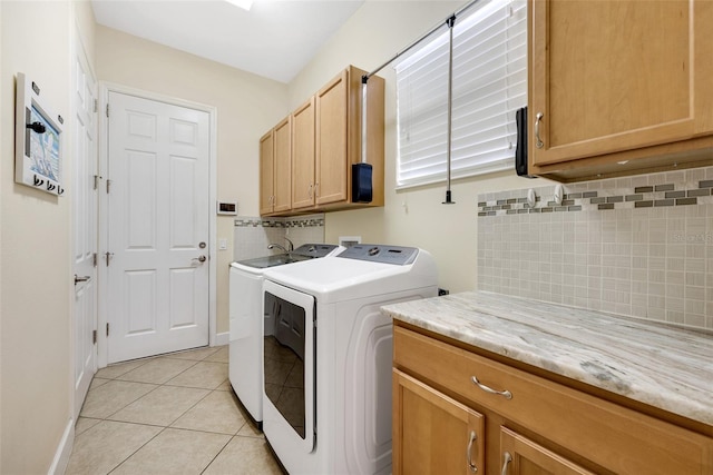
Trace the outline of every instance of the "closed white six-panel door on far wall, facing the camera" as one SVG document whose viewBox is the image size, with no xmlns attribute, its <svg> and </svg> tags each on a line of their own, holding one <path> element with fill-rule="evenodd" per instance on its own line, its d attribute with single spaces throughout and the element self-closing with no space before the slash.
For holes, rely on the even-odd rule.
<svg viewBox="0 0 713 475">
<path fill-rule="evenodd" d="M 108 363 L 208 344 L 207 112 L 109 92 Z"/>
</svg>

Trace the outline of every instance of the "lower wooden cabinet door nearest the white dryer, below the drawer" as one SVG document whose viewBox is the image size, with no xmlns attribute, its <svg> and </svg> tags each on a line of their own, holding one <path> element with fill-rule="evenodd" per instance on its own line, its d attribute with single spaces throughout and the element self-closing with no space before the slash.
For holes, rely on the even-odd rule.
<svg viewBox="0 0 713 475">
<path fill-rule="evenodd" d="M 485 417 L 393 370 L 393 473 L 484 473 Z"/>
</svg>

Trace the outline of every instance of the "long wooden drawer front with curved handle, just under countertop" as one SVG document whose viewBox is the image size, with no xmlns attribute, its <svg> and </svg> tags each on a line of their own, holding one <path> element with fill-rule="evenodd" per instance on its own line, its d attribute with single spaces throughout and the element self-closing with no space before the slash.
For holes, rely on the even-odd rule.
<svg viewBox="0 0 713 475">
<path fill-rule="evenodd" d="M 713 441 L 577 389 L 394 327 L 394 366 L 622 474 L 713 474 Z M 480 384 L 510 398 L 478 387 Z"/>
</svg>

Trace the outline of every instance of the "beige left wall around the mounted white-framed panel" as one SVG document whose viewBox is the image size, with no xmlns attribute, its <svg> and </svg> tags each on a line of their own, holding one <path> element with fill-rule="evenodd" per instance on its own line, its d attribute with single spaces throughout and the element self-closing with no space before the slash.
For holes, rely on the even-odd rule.
<svg viewBox="0 0 713 475">
<path fill-rule="evenodd" d="M 0 473 L 47 473 L 72 418 L 70 198 L 14 184 L 14 78 L 69 119 L 75 26 L 94 42 L 88 3 L 0 2 Z M 74 19 L 77 11 L 81 19 Z M 71 189 L 71 121 L 62 133 Z"/>
</svg>

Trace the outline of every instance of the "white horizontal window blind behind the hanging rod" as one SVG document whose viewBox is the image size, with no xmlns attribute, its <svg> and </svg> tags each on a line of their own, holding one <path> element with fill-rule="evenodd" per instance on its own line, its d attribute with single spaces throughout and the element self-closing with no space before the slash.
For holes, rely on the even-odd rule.
<svg viewBox="0 0 713 475">
<path fill-rule="evenodd" d="M 448 27 L 395 66 L 397 187 L 446 179 Z M 481 0 L 453 26 L 451 177 L 515 166 L 515 111 L 527 106 L 527 2 Z"/>
</svg>

